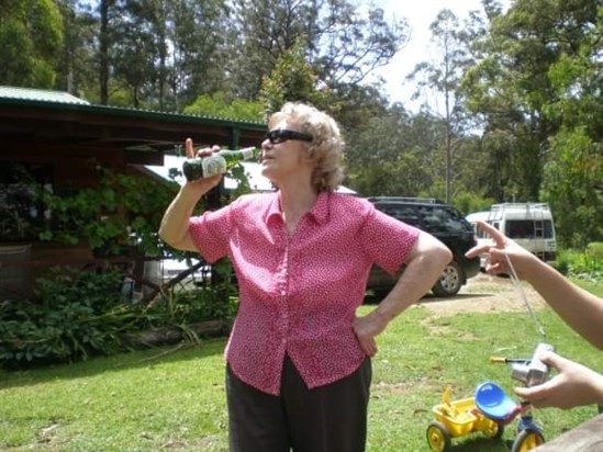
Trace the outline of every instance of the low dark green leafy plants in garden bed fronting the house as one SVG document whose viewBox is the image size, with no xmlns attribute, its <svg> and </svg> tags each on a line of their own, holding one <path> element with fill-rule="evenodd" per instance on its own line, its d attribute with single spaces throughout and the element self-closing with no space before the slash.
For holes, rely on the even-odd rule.
<svg viewBox="0 0 603 452">
<path fill-rule="evenodd" d="M 0 302 L 0 366 L 29 366 L 86 360 L 131 349 L 132 335 L 152 328 L 176 328 L 183 340 L 197 341 L 190 324 L 231 319 L 236 298 L 232 283 L 171 290 L 146 306 L 121 296 L 123 273 L 118 269 L 79 272 L 56 269 L 54 278 L 37 281 L 35 301 Z"/>
</svg>

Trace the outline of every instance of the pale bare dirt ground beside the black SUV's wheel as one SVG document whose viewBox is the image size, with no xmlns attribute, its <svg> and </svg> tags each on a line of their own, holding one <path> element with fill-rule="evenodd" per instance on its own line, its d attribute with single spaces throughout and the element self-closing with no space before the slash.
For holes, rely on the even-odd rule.
<svg viewBox="0 0 603 452">
<path fill-rule="evenodd" d="M 545 306 L 538 293 L 527 283 L 521 287 L 532 309 Z M 450 298 L 425 296 L 420 304 L 433 309 L 438 316 L 451 316 L 458 313 L 502 313 L 526 310 L 525 303 L 509 278 L 491 276 L 480 273 L 471 278 L 460 292 Z"/>
</svg>

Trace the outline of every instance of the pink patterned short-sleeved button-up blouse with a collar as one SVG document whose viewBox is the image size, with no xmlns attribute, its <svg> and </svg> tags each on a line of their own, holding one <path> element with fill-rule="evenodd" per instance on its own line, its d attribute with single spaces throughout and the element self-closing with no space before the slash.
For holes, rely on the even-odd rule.
<svg viewBox="0 0 603 452">
<path fill-rule="evenodd" d="M 242 381 L 278 395 L 289 354 L 308 387 L 356 371 L 365 354 L 351 330 L 370 268 L 395 272 L 418 230 L 366 200 L 321 193 L 289 234 L 279 192 L 244 195 L 193 217 L 189 231 L 209 262 L 228 257 L 239 285 L 225 357 Z"/>
</svg>

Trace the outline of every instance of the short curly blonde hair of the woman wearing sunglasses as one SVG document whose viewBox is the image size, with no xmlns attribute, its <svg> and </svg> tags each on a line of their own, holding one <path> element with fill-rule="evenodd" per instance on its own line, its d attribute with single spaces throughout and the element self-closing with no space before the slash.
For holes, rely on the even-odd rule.
<svg viewBox="0 0 603 452">
<path fill-rule="evenodd" d="M 287 102 L 273 113 L 268 125 L 282 120 L 299 127 L 299 132 L 312 135 L 306 151 L 314 162 L 312 187 L 317 192 L 335 191 L 344 180 L 344 140 L 336 121 L 319 109 L 299 102 Z"/>
</svg>

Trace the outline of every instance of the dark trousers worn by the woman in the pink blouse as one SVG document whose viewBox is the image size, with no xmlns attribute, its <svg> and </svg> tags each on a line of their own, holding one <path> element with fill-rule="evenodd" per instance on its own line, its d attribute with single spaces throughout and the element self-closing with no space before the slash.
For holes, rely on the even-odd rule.
<svg viewBox="0 0 603 452">
<path fill-rule="evenodd" d="M 309 389 L 286 357 L 281 394 L 255 389 L 226 368 L 231 452 L 362 452 L 370 359 L 351 375 Z"/>
</svg>

